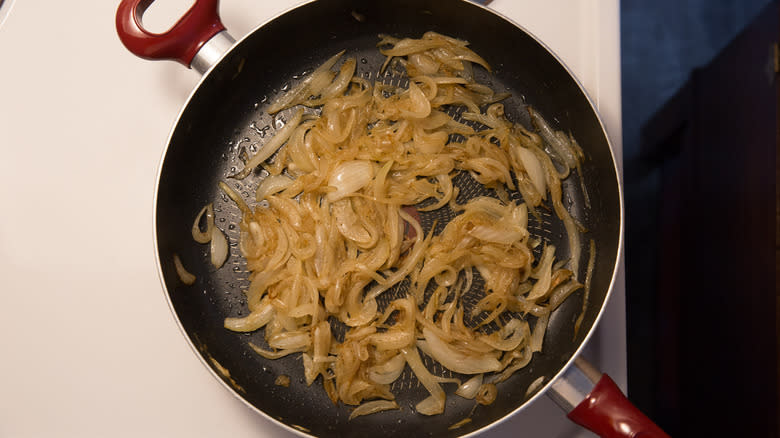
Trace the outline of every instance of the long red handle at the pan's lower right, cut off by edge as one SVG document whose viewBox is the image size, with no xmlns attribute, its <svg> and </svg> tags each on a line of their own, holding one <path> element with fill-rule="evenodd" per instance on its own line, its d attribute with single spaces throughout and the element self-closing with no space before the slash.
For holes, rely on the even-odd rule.
<svg viewBox="0 0 780 438">
<path fill-rule="evenodd" d="M 602 438 L 669 438 L 606 374 L 567 417 Z"/>
</svg>

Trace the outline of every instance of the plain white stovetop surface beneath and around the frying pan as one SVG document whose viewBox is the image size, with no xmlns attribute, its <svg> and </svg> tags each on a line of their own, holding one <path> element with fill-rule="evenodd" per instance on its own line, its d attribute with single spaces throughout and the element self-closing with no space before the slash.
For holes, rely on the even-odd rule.
<svg viewBox="0 0 780 438">
<path fill-rule="evenodd" d="M 5 1 L 0 16 L 7 10 Z M 186 9 L 158 0 L 147 17 Z M 241 37 L 296 0 L 223 0 Z M 158 161 L 198 81 L 120 44 L 117 0 L 16 0 L 0 27 L 0 437 L 284 437 L 201 365 L 157 276 Z M 596 102 L 620 157 L 619 0 L 495 0 Z M 169 9 L 170 8 L 170 9 Z M 1 21 L 1 19 L 0 19 Z M 622 274 L 586 357 L 625 388 Z M 592 436 L 547 398 L 490 436 Z"/>
</svg>

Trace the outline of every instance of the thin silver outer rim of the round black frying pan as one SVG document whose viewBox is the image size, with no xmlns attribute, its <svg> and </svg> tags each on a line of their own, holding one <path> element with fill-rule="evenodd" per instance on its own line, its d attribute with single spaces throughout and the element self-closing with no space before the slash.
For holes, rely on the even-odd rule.
<svg viewBox="0 0 780 438">
<path fill-rule="evenodd" d="M 235 390 L 235 388 L 231 387 L 227 382 L 225 382 L 225 380 L 217 373 L 217 371 L 215 371 L 213 369 L 213 367 L 207 361 L 206 357 L 204 357 L 204 355 L 200 352 L 200 350 L 197 348 L 197 346 L 194 344 L 194 342 L 190 338 L 189 334 L 187 333 L 187 330 L 182 325 L 182 322 L 181 322 L 181 319 L 178 316 L 178 313 L 176 312 L 176 309 L 174 307 L 173 301 L 171 299 L 170 292 L 168 291 L 168 287 L 166 285 L 164 273 L 162 271 L 162 261 L 161 261 L 161 258 L 160 258 L 161 256 L 160 256 L 160 249 L 159 249 L 159 239 L 158 239 L 158 233 L 157 233 L 157 227 L 158 227 L 157 206 L 158 206 L 158 196 L 159 196 L 159 192 L 160 192 L 160 190 L 159 190 L 160 189 L 160 182 L 161 182 L 163 168 L 164 168 L 164 165 L 165 165 L 165 158 L 166 158 L 166 156 L 168 154 L 169 148 L 171 147 L 171 141 L 173 139 L 173 136 L 174 136 L 174 134 L 175 134 L 175 132 L 176 132 L 178 126 L 179 126 L 179 123 L 180 123 L 180 121 L 182 119 L 182 116 L 183 116 L 184 112 L 189 108 L 190 102 L 193 100 L 195 94 L 201 89 L 201 86 L 203 85 L 203 83 L 206 80 L 208 80 L 208 78 L 210 77 L 210 75 L 213 72 L 213 70 L 217 66 L 221 65 L 226 58 L 230 57 L 231 54 L 234 52 L 234 50 L 239 45 L 241 45 L 247 39 L 251 38 L 252 35 L 254 35 L 255 32 L 257 32 L 259 29 L 269 25 L 270 23 L 276 21 L 277 19 L 279 19 L 280 17 L 282 17 L 284 15 L 287 15 L 287 14 L 291 13 L 294 10 L 306 7 L 307 5 L 309 5 L 311 3 L 314 3 L 316 1 L 317 0 L 305 0 L 305 1 L 302 1 L 302 2 L 300 2 L 300 3 L 298 3 L 298 4 L 294 5 L 294 6 L 291 6 L 291 7 L 287 8 L 287 9 L 279 12 L 278 14 L 276 14 L 273 17 L 267 19 L 266 21 L 261 22 L 260 24 L 255 26 L 252 30 L 247 32 L 245 35 L 243 35 L 240 38 L 238 38 L 236 40 L 236 42 L 225 53 L 223 53 L 220 56 L 220 58 L 213 65 L 211 65 L 208 68 L 208 70 L 206 70 L 206 72 L 203 73 L 203 75 L 200 77 L 200 79 L 195 84 L 193 89 L 190 91 L 187 99 L 182 104 L 178 114 L 176 115 L 176 117 L 175 117 L 175 119 L 173 121 L 172 127 L 171 127 L 171 129 L 169 131 L 169 134 L 168 134 L 168 137 L 167 137 L 167 139 L 165 141 L 164 148 L 163 148 L 163 151 L 161 153 L 160 160 L 158 161 L 156 180 L 155 180 L 155 184 L 154 184 L 154 196 L 153 196 L 153 208 L 152 208 L 152 215 L 153 215 L 153 220 L 152 220 L 152 238 L 153 238 L 154 256 L 155 256 L 155 261 L 156 261 L 156 268 L 157 268 L 158 278 L 159 278 L 160 283 L 162 285 L 162 292 L 165 295 L 165 298 L 166 298 L 166 301 L 168 303 L 168 307 L 169 307 L 169 309 L 171 311 L 171 314 L 174 317 L 175 323 L 179 327 L 179 330 L 184 335 L 184 338 L 186 339 L 187 344 L 189 344 L 189 346 L 192 349 L 193 353 L 195 353 L 195 356 L 200 360 L 200 362 L 208 370 L 208 372 L 225 389 L 227 389 L 234 397 L 239 399 L 242 403 L 244 403 L 247 407 L 249 407 L 255 413 L 259 413 L 260 415 L 262 415 L 264 418 L 270 420 L 275 425 L 280 426 L 283 429 L 285 429 L 285 430 L 287 430 L 287 431 L 289 431 L 289 432 L 291 432 L 291 433 L 293 433 L 295 435 L 298 435 L 300 437 L 316 437 L 316 436 L 312 435 L 310 433 L 306 433 L 305 431 L 297 429 L 297 428 L 295 428 L 295 427 L 293 427 L 291 425 L 288 425 L 287 423 L 284 423 L 284 422 L 278 420 L 277 418 L 272 417 L 271 415 L 269 415 L 265 411 L 259 409 L 258 407 L 256 407 L 252 403 L 250 403 L 248 400 L 246 400 L 244 397 L 242 397 Z M 588 342 L 590 341 L 591 337 L 593 336 L 593 333 L 596 331 L 596 329 L 599 326 L 599 323 L 600 323 L 600 321 L 601 321 L 601 319 L 602 319 L 602 317 L 604 315 L 605 308 L 607 307 L 607 304 L 609 303 L 610 298 L 612 297 L 613 291 L 615 289 L 615 284 L 616 284 L 616 281 L 617 281 L 618 272 L 621 269 L 621 266 L 623 264 L 625 213 L 624 213 L 623 181 L 622 181 L 621 166 L 618 165 L 618 162 L 617 162 L 617 159 L 616 159 L 616 156 L 615 156 L 615 150 L 614 150 L 613 142 L 610 139 L 609 132 L 607 131 L 606 126 L 604 125 L 604 121 L 603 121 L 603 119 L 601 117 L 601 114 L 598 111 L 596 105 L 594 104 L 593 98 L 590 96 L 588 91 L 585 89 L 585 87 L 583 86 L 583 84 L 580 81 L 580 79 L 574 74 L 574 72 L 569 68 L 569 66 L 561 59 L 561 57 L 556 52 L 554 52 L 544 41 L 542 41 L 539 37 L 537 37 L 534 33 L 529 31 L 527 28 L 525 28 L 521 24 L 517 23 L 515 20 L 507 17 L 506 15 L 502 14 L 499 11 L 496 11 L 496 10 L 494 10 L 494 9 L 488 7 L 488 6 L 482 5 L 482 4 L 480 4 L 480 3 L 476 2 L 476 1 L 471 1 L 471 0 L 456 0 L 456 1 L 463 2 L 463 3 L 468 3 L 468 4 L 473 5 L 475 7 L 481 8 L 483 11 L 485 11 L 485 12 L 487 12 L 489 14 L 492 14 L 493 16 L 497 17 L 498 19 L 501 19 L 501 20 L 504 20 L 504 21 L 508 22 L 509 24 L 513 25 L 514 27 L 516 27 L 517 29 L 519 29 L 520 31 L 525 33 L 527 36 L 532 38 L 540 47 L 542 47 L 547 52 L 548 55 L 552 56 L 555 59 L 555 61 L 557 61 L 558 64 L 566 71 L 568 76 L 574 81 L 574 83 L 576 84 L 577 88 L 583 94 L 583 96 L 587 100 L 588 105 L 590 106 L 591 110 L 595 114 L 596 120 L 598 121 L 598 124 L 599 124 L 599 126 L 601 128 L 601 132 L 603 133 L 604 138 L 605 138 L 605 140 L 607 142 L 607 146 L 609 148 L 609 154 L 610 154 L 611 162 L 612 162 L 612 166 L 611 167 L 612 167 L 612 170 L 614 171 L 615 177 L 616 177 L 615 184 L 617 184 L 618 219 L 619 219 L 619 221 L 618 221 L 618 230 L 617 230 L 617 232 L 618 232 L 617 249 L 616 249 L 616 252 L 615 252 L 615 263 L 614 263 L 614 266 L 612 268 L 611 278 L 610 278 L 608 289 L 607 289 L 607 291 L 605 293 L 604 299 L 600 303 L 600 309 L 599 309 L 598 313 L 596 314 L 596 317 L 594 318 L 593 323 L 588 328 L 588 333 L 582 339 L 582 341 L 580 342 L 579 346 L 569 356 L 569 358 L 566 361 L 566 363 L 563 366 L 561 366 L 559 368 L 559 370 L 553 376 L 551 376 L 548 379 L 548 381 L 539 390 L 537 390 L 537 392 L 533 396 L 531 396 L 530 398 L 528 398 L 528 399 L 524 400 L 523 402 L 521 402 L 518 406 L 516 406 L 511 411 L 508 411 L 501 418 L 498 418 L 498 419 L 496 419 L 496 420 L 494 420 L 494 421 L 492 421 L 492 422 L 490 422 L 488 424 L 485 424 L 482 427 L 480 427 L 478 429 L 475 429 L 475 430 L 473 430 L 471 432 L 468 432 L 468 433 L 463 434 L 463 435 L 459 435 L 459 436 L 464 437 L 464 438 L 465 437 L 473 438 L 473 437 L 475 437 L 475 436 L 477 436 L 477 435 L 479 435 L 481 433 L 484 433 L 486 430 L 491 429 L 491 428 L 493 428 L 495 426 L 498 426 L 498 425 L 504 423 L 505 421 L 509 420 L 510 418 L 516 416 L 519 412 L 524 410 L 526 407 L 528 407 L 531 404 L 533 404 L 534 402 L 536 402 L 538 400 L 538 398 L 541 397 L 543 394 L 546 395 L 546 393 L 550 390 L 550 387 L 553 385 L 553 383 L 555 383 L 558 379 L 560 379 L 561 376 L 563 374 L 565 374 L 566 371 L 571 366 L 573 366 L 574 360 L 582 353 L 582 350 L 588 344 Z"/>
</svg>

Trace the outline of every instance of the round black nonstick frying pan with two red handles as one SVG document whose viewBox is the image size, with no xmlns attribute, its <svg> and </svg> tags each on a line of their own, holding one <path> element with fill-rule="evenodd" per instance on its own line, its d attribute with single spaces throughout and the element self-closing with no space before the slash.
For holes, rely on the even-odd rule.
<svg viewBox="0 0 780 438">
<path fill-rule="evenodd" d="M 152 1 L 121 2 L 116 24 L 122 42 L 141 57 L 174 59 L 203 74 L 172 130 L 160 165 L 154 229 L 158 266 L 184 334 L 203 363 L 236 396 L 302 435 L 460 436 L 482 430 L 548 392 L 572 411 L 570 418 L 603 436 L 634 436 L 640 431 L 665 436 L 628 405 L 608 376 L 602 377 L 577 358 L 613 285 L 623 230 L 622 198 L 615 160 L 598 114 L 571 73 L 540 41 L 506 18 L 464 0 L 318 0 L 278 16 L 235 43 L 219 20 L 217 0 L 196 1 L 163 34 L 152 34 L 142 26 L 143 12 Z M 284 123 L 286 113 L 271 117 L 265 109 L 305 71 L 346 49 L 347 56 L 359 60 L 357 74 L 402 83 L 403 77 L 378 74 L 384 57 L 376 49 L 377 35 L 419 37 L 429 30 L 469 41 L 491 63 L 494 71 L 490 75 L 475 69 L 477 80 L 511 93 L 503 103 L 512 120 L 530 127 L 525 107 L 533 105 L 554 128 L 571 132 L 582 145 L 586 159 L 576 178 L 584 180 L 590 208 L 585 206 L 576 178 L 563 183 L 563 199 L 588 230 L 581 239 L 582 259 L 589 257 L 588 242 L 593 239 L 597 263 L 579 331 L 575 334 L 574 322 L 582 309 L 582 292 L 552 314 L 543 351 L 499 385 L 494 403 L 475 409 L 473 401 L 450 396 L 444 414 L 417 414 L 411 407 L 427 392 L 407 369 L 392 386 L 401 410 L 348 421 L 351 407 L 331 403 L 317 383 L 311 388 L 305 385 L 299 357 L 263 359 L 248 345 L 264 345 L 262 332 L 241 334 L 223 328 L 225 317 L 247 312 L 242 290 L 248 285 L 248 272 L 235 244 L 241 216 L 219 191 L 218 182 L 227 181 L 247 199 L 253 196 L 262 173 L 241 181 L 227 177 L 241 168 L 240 156 L 251 155 Z M 467 175 L 456 178 L 456 183 L 466 193 L 462 196 L 484 194 Z M 207 248 L 193 242 L 190 235 L 197 212 L 210 202 L 217 226 L 233 245 L 220 269 L 208 263 Z M 529 230 L 554 243 L 558 258 L 565 259 L 570 248 L 563 226 L 540 210 L 541 220 L 531 219 Z M 422 214 L 421 219 L 427 230 L 436 220 L 447 218 L 433 213 Z M 174 254 L 196 275 L 193 285 L 184 285 L 178 278 Z M 431 360 L 426 364 L 435 372 L 445 372 Z M 289 387 L 275 384 L 282 374 L 290 376 Z M 544 379 L 541 389 L 526 394 L 539 377 Z M 450 428 L 467 417 L 470 422 Z"/>
</svg>

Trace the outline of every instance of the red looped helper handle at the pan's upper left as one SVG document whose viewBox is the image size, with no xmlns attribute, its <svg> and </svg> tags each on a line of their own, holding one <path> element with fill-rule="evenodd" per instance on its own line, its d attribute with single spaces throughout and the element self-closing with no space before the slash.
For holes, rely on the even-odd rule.
<svg viewBox="0 0 780 438">
<path fill-rule="evenodd" d="M 116 12 L 119 39 L 141 58 L 170 59 L 189 67 L 201 46 L 225 30 L 219 19 L 219 0 L 196 0 L 168 31 L 159 34 L 149 32 L 141 21 L 153 2 L 122 0 Z"/>
</svg>

